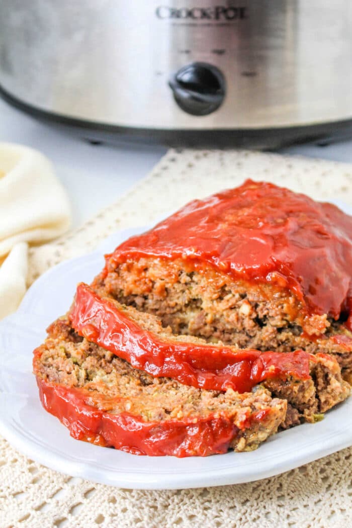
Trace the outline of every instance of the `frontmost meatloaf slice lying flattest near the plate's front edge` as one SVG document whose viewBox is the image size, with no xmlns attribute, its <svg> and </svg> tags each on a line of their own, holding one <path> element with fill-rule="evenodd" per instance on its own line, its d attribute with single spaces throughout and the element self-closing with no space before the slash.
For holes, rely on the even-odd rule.
<svg viewBox="0 0 352 528">
<path fill-rule="evenodd" d="M 80 337 L 67 319 L 34 351 L 43 407 L 72 437 L 139 455 L 248 451 L 275 433 L 287 402 L 267 389 L 206 391 L 153 378 Z"/>
</svg>

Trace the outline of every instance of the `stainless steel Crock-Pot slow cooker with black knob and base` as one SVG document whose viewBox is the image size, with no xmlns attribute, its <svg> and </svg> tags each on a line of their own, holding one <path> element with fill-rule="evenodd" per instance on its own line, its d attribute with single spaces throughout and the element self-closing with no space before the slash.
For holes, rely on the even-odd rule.
<svg viewBox="0 0 352 528">
<path fill-rule="evenodd" d="M 352 135 L 350 0 L 2 0 L 0 89 L 91 138 Z"/>
</svg>

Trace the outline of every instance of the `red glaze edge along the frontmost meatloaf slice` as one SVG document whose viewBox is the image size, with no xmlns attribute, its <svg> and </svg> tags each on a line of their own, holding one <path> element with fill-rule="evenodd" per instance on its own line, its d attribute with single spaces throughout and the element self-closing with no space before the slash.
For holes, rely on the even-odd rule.
<svg viewBox="0 0 352 528">
<path fill-rule="evenodd" d="M 199 418 L 196 422 L 145 422 L 128 412 L 109 414 L 86 403 L 88 391 L 48 383 L 39 376 L 37 385 L 44 409 L 59 418 L 73 438 L 134 455 L 182 458 L 225 453 L 239 431 L 226 416 Z M 253 413 L 243 429 L 253 420 L 262 421 L 267 412 Z"/>
</svg>

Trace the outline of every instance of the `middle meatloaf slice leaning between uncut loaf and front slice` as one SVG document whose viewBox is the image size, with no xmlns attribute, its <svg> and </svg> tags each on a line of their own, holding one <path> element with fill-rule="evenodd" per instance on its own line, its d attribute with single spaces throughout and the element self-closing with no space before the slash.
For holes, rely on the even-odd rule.
<svg viewBox="0 0 352 528">
<path fill-rule="evenodd" d="M 303 351 L 261 353 L 175 336 L 156 316 L 123 307 L 85 284 L 77 287 L 69 319 L 78 334 L 156 377 L 239 392 L 261 382 L 297 408 L 299 419 L 313 421 L 317 413 L 334 407 L 350 392 L 330 356 Z"/>
</svg>

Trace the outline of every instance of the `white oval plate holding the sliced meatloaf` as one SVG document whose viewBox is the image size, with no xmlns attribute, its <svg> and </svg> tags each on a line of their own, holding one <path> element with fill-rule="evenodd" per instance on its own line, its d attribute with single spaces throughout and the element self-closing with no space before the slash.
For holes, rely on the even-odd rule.
<svg viewBox="0 0 352 528">
<path fill-rule="evenodd" d="M 274 435 L 252 452 L 211 457 L 136 456 L 74 440 L 41 406 L 32 374 L 32 351 L 45 328 L 66 312 L 79 281 L 103 267 L 103 253 L 132 234 L 116 233 L 88 256 L 47 271 L 27 291 L 17 312 L 0 322 L 0 432 L 28 457 L 60 472 L 103 484 L 178 489 L 250 482 L 283 473 L 352 445 L 352 399 L 315 425 Z"/>
</svg>

